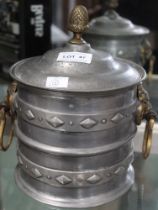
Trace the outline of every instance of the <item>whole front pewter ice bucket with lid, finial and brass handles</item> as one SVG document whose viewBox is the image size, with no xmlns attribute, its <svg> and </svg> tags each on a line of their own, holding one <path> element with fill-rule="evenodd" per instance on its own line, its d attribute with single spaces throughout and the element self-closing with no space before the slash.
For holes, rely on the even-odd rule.
<svg viewBox="0 0 158 210">
<path fill-rule="evenodd" d="M 17 185 L 58 207 L 95 207 L 130 189 L 132 139 L 142 119 L 144 158 L 151 148 L 155 115 L 143 68 L 92 49 L 82 39 L 87 24 L 86 8 L 75 7 L 66 47 L 15 64 L 10 74 L 17 90 L 14 83 L 1 109 L 2 130 L 4 116 L 15 120 Z M 3 138 L 0 145 L 7 149 Z"/>
</svg>

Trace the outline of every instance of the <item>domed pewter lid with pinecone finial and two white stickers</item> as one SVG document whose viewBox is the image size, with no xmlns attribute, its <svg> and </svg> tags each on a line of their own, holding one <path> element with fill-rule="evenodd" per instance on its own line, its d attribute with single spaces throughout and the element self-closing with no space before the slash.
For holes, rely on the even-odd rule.
<svg viewBox="0 0 158 210">
<path fill-rule="evenodd" d="M 85 7 L 77 6 L 70 16 L 73 39 L 64 48 L 50 50 L 15 64 L 10 74 L 16 81 L 40 89 L 68 92 L 102 92 L 138 84 L 143 68 L 96 51 L 81 38 L 88 24 Z"/>
</svg>

